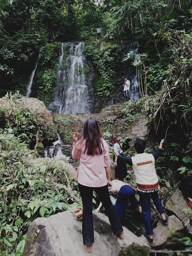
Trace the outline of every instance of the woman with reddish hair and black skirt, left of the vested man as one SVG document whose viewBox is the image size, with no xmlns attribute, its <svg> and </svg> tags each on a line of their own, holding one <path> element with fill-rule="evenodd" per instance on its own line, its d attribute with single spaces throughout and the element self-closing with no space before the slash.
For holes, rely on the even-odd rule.
<svg viewBox="0 0 192 256">
<path fill-rule="evenodd" d="M 123 148 L 121 143 L 115 136 L 112 136 L 109 141 L 113 144 L 113 147 L 118 154 L 123 156 Z M 119 161 L 116 155 L 114 155 L 114 165 L 115 165 L 115 177 L 118 180 L 123 181 L 124 178 L 127 176 L 127 166 L 124 162 Z"/>
</svg>

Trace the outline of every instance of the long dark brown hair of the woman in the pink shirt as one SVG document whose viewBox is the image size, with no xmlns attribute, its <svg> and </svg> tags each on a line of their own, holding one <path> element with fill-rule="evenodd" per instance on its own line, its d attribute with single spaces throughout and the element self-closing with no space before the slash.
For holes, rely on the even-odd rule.
<svg viewBox="0 0 192 256">
<path fill-rule="evenodd" d="M 101 137 L 96 119 L 94 119 L 94 117 L 89 117 L 85 121 L 76 148 L 79 150 L 83 146 L 83 141 L 85 140 L 85 151 L 87 150 L 87 155 L 101 155 L 103 153 L 103 141 Z"/>
</svg>

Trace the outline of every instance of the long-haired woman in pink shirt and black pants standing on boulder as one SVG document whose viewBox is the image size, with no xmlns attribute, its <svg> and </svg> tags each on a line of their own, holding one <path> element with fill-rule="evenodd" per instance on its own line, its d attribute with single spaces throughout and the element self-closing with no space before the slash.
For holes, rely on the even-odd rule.
<svg viewBox="0 0 192 256">
<path fill-rule="evenodd" d="M 109 197 L 108 185 L 112 186 L 110 177 L 109 147 L 102 139 L 97 121 L 89 117 L 78 139 L 78 132 L 73 132 L 73 159 L 80 157 L 77 170 L 78 188 L 83 202 L 83 244 L 91 252 L 94 243 L 92 216 L 93 191 L 103 203 L 112 231 L 123 238 L 123 228 Z"/>
</svg>

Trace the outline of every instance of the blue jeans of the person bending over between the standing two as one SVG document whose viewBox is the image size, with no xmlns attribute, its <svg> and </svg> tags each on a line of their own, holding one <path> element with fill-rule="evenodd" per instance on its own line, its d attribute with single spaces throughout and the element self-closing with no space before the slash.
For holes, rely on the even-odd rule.
<svg viewBox="0 0 192 256">
<path fill-rule="evenodd" d="M 138 206 L 138 201 L 135 197 L 135 191 L 131 186 L 124 185 L 121 187 L 118 193 L 117 201 L 115 204 L 115 210 L 120 220 L 122 220 L 125 215 L 125 209 L 127 207 L 128 200 L 131 204 L 132 210 L 134 210 Z"/>
</svg>

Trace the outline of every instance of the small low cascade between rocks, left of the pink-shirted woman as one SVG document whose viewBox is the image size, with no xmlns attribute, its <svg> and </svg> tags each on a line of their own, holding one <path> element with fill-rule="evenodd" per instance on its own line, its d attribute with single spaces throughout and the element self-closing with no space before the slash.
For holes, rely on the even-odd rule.
<svg viewBox="0 0 192 256">
<path fill-rule="evenodd" d="M 58 135 L 58 140 L 53 142 L 53 146 L 50 146 L 49 148 L 46 148 L 44 150 L 44 156 L 49 157 L 49 158 L 65 158 L 67 161 L 69 160 L 70 157 L 66 157 L 66 155 L 63 155 L 62 153 L 62 145 L 63 141 L 61 140 L 59 134 Z"/>
</svg>

